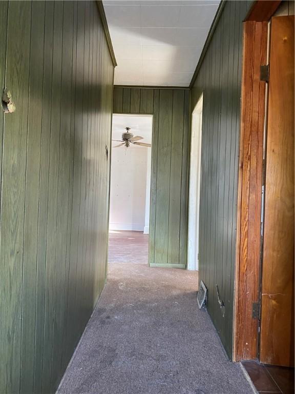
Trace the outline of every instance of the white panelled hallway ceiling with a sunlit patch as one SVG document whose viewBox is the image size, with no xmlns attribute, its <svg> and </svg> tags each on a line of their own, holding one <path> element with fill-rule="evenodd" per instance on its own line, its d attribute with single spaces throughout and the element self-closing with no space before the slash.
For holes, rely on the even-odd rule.
<svg viewBox="0 0 295 394">
<path fill-rule="evenodd" d="M 115 85 L 188 86 L 219 0 L 103 0 Z"/>
</svg>

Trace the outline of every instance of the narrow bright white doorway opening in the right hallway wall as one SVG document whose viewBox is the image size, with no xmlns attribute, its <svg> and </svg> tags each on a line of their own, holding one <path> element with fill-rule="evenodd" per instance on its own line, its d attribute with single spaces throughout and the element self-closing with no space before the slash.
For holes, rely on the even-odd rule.
<svg viewBox="0 0 295 394">
<path fill-rule="evenodd" d="M 189 168 L 188 194 L 188 244 L 187 269 L 199 269 L 199 222 L 201 185 L 201 145 L 202 145 L 203 94 L 192 115 L 191 159 Z"/>
</svg>

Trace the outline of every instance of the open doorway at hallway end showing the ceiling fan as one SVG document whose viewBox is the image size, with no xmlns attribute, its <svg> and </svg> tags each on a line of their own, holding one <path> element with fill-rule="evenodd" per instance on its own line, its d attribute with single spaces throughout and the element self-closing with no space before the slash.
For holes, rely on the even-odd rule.
<svg viewBox="0 0 295 394">
<path fill-rule="evenodd" d="M 152 125 L 152 115 L 113 115 L 110 261 L 148 261 Z"/>
</svg>

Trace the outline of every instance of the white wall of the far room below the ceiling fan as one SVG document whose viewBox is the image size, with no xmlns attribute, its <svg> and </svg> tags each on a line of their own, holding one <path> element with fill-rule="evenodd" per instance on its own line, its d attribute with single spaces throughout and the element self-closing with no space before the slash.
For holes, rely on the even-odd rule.
<svg viewBox="0 0 295 394">
<path fill-rule="evenodd" d="M 112 148 L 110 230 L 144 230 L 147 149 Z"/>
</svg>

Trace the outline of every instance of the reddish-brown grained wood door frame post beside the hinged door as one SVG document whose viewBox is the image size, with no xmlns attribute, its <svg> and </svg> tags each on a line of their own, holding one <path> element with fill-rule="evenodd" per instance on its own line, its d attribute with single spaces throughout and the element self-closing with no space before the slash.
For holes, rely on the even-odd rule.
<svg viewBox="0 0 295 394">
<path fill-rule="evenodd" d="M 234 322 L 234 361 L 257 358 L 258 320 L 252 303 L 259 301 L 260 222 L 263 169 L 267 22 L 244 23 L 241 141 L 237 221 L 237 262 Z"/>
</svg>

